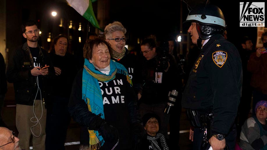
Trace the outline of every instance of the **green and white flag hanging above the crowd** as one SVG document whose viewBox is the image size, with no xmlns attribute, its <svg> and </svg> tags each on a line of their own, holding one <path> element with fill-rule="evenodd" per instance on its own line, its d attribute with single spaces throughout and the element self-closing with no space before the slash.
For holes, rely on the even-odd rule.
<svg viewBox="0 0 267 150">
<path fill-rule="evenodd" d="M 96 1 L 96 0 L 92 0 Z M 72 6 L 79 14 L 81 14 L 85 19 L 87 19 L 94 27 L 99 28 L 99 30 L 104 31 L 99 27 L 97 19 L 95 18 L 95 13 L 93 11 L 91 0 L 67 0 L 67 2 Z"/>
</svg>

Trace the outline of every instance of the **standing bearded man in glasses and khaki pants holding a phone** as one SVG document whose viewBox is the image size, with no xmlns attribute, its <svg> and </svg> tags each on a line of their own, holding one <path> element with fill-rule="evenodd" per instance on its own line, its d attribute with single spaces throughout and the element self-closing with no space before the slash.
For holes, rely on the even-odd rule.
<svg viewBox="0 0 267 150">
<path fill-rule="evenodd" d="M 47 111 L 45 103 L 49 94 L 48 79 L 54 76 L 54 67 L 47 51 L 38 45 L 39 29 L 29 20 L 22 24 L 22 35 L 27 39 L 10 56 L 6 71 L 9 83 L 14 84 L 16 100 L 16 126 L 22 149 L 29 150 L 33 135 L 33 149 L 45 149 Z M 45 69 L 42 67 L 50 66 Z"/>
</svg>

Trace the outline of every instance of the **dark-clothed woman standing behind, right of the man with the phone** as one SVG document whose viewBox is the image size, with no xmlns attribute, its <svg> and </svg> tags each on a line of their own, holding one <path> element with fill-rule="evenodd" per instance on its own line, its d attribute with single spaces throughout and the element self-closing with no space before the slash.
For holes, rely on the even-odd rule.
<svg viewBox="0 0 267 150">
<path fill-rule="evenodd" d="M 71 119 L 68 102 L 72 83 L 78 72 L 68 46 L 67 37 L 58 35 L 53 39 L 49 53 L 56 76 L 50 81 L 53 85 L 51 101 L 47 102 L 46 149 L 65 149 L 67 128 Z"/>
</svg>

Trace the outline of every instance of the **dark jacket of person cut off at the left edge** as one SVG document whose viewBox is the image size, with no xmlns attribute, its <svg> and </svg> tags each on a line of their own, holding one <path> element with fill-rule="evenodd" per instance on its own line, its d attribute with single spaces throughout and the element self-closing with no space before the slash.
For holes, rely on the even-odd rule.
<svg viewBox="0 0 267 150">
<path fill-rule="evenodd" d="M 6 94 L 6 65 L 3 55 L 0 53 L 0 94 Z"/>
</svg>

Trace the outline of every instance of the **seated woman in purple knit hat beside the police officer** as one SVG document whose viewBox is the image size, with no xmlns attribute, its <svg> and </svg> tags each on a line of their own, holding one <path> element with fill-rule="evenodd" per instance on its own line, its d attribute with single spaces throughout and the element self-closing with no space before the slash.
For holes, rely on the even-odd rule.
<svg viewBox="0 0 267 150">
<path fill-rule="evenodd" d="M 248 118 L 242 126 L 239 146 L 241 149 L 267 149 L 267 101 L 255 106 L 256 116 Z"/>
</svg>

